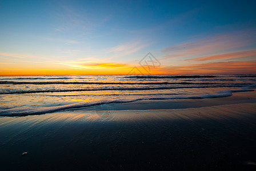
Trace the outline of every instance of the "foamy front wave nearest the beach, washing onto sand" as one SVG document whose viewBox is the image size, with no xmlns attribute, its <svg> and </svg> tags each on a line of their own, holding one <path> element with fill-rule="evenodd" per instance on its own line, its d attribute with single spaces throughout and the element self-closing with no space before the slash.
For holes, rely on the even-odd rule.
<svg viewBox="0 0 256 171">
<path fill-rule="evenodd" d="M 232 96 L 233 92 L 246 92 L 246 91 L 254 91 L 251 87 L 242 87 L 241 89 L 235 90 L 225 90 L 218 91 L 215 94 L 210 95 L 198 95 L 198 96 L 166 96 L 166 97 L 139 97 L 133 100 L 103 100 L 103 101 L 94 101 L 94 102 L 82 102 L 75 104 L 67 104 L 57 107 L 45 107 L 38 109 L 7 109 L 0 110 L 1 116 L 27 116 L 27 115 L 41 115 L 50 112 L 63 111 L 66 109 L 74 109 L 74 108 L 84 108 L 84 107 L 92 107 L 100 104 L 109 104 L 109 103 L 127 103 L 138 100 L 167 100 L 167 99 L 205 99 L 205 98 L 215 98 L 215 97 L 227 97 Z"/>
</svg>

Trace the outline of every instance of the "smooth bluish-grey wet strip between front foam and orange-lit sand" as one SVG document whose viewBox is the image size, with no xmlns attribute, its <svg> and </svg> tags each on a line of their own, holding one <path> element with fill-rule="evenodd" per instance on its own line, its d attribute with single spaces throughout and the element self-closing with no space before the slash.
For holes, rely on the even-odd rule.
<svg viewBox="0 0 256 171">
<path fill-rule="evenodd" d="M 234 92 L 232 96 L 205 99 L 163 99 L 163 100 L 138 100 L 128 103 L 115 103 L 114 111 L 147 110 L 147 109 L 183 109 L 211 107 L 224 104 L 256 103 L 256 91 Z M 103 104 L 105 105 L 105 104 Z M 70 109 L 73 111 L 74 109 Z M 79 109 L 78 109 L 79 110 Z M 94 107 L 83 108 L 94 111 Z"/>
</svg>

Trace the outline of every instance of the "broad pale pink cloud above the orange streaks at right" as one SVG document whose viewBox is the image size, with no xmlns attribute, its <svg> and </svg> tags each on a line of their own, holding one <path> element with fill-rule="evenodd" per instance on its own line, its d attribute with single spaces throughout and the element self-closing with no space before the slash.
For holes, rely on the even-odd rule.
<svg viewBox="0 0 256 171">
<path fill-rule="evenodd" d="M 170 46 L 163 49 L 162 52 L 165 53 L 165 59 L 191 59 L 203 56 L 214 56 L 215 54 L 231 55 L 231 53 L 237 51 L 237 48 L 246 48 L 247 46 L 250 46 L 251 42 L 253 41 L 255 40 L 253 37 L 250 37 L 250 34 L 215 35 L 213 37 L 199 41 Z M 222 59 L 221 56 L 216 56 L 216 58 Z"/>
</svg>

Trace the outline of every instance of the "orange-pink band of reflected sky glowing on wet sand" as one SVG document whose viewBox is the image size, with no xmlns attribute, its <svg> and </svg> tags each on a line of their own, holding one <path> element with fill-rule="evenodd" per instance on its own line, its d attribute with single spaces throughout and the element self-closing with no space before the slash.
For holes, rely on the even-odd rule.
<svg viewBox="0 0 256 171">
<path fill-rule="evenodd" d="M 246 106 L 246 111 L 245 111 Z M 119 110 L 111 112 L 109 117 L 101 117 L 91 108 L 91 111 L 64 111 L 24 117 L 0 117 L 1 129 L 5 127 L 33 127 L 33 125 L 45 126 L 48 124 L 71 123 L 105 123 L 105 122 L 140 122 L 147 120 L 187 120 L 213 119 L 222 120 L 232 117 L 246 117 L 256 111 L 255 103 L 230 104 L 213 107 L 186 108 L 186 109 L 158 109 L 158 110 Z M 105 112 L 105 111 L 100 111 Z M 108 111 L 106 111 L 108 112 Z"/>
</svg>

